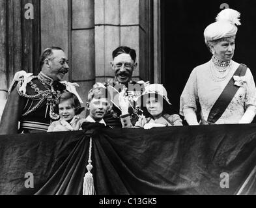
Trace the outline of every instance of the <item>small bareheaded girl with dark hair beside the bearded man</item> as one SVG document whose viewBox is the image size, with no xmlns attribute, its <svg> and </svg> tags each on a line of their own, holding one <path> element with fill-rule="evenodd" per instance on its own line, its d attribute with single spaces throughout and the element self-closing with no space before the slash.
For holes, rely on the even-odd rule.
<svg viewBox="0 0 256 208">
<path fill-rule="evenodd" d="M 79 118 L 79 114 L 84 110 L 79 99 L 71 92 L 64 92 L 57 101 L 54 111 L 59 114 L 60 119 L 51 123 L 48 132 L 51 131 L 78 131 L 85 122 L 85 118 Z"/>
</svg>

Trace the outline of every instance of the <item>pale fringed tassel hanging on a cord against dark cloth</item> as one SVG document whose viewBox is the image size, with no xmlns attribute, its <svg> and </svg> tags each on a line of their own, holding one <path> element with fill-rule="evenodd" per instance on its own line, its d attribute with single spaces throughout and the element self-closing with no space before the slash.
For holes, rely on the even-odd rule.
<svg viewBox="0 0 256 208">
<path fill-rule="evenodd" d="M 89 146 L 89 159 L 88 164 L 86 166 L 87 173 L 85 177 L 83 177 L 83 195 L 94 195 L 94 184 L 93 184 L 93 177 L 92 177 L 92 138 L 90 138 L 90 146 Z"/>
</svg>

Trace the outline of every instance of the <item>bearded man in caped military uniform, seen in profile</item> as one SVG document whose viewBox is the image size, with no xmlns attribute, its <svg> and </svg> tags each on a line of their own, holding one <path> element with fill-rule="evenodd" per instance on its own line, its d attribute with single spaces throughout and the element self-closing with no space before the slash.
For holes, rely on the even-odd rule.
<svg viewBox="0 0 256 208">
<path fill-rule="evenodd" d="M 53 112 L 53 104 L 66 90 L 66 85 L 60 81 L 68 69 L 68 59 L 63 49 L 49 47 L 40 57 L 38 75 L 17 72 L 1 118 L 0 134 L 47 131 L 51 121 L 59 118 Z"/>
</svg>

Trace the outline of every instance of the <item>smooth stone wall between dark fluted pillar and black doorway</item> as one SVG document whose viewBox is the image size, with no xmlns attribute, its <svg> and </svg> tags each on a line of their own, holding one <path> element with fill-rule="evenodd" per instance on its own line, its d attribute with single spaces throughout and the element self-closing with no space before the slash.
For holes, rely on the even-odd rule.
<svg viewBox="0 0 256 208">
<path fill-rule="evenodd" d="M 111 53 L 119 45 L 128 45 L 137 52 L 139 67 L 134 79 L 152 80 L 151 2 L 44 0 L 42 49 L 57 45 L 68 53 L 72 70 L 66 79 L 80 85 L 78 92 L 84 101 L 95 82 L 113 77 Z"/>
</svg>

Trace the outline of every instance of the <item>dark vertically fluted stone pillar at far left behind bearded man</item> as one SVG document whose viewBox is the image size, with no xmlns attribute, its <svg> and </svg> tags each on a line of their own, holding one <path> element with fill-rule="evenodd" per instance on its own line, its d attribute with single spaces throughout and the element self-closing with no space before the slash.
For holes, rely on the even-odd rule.
<svg viewBox="0 0 256 208">
<path fill-rule="evenodd" d="M 25 18 L 33 5 L 34 19 Z M 40 1 L 0 0 L 0 116 L 14 74 L 38 72 L 40 56 Z"/>
</svg>

